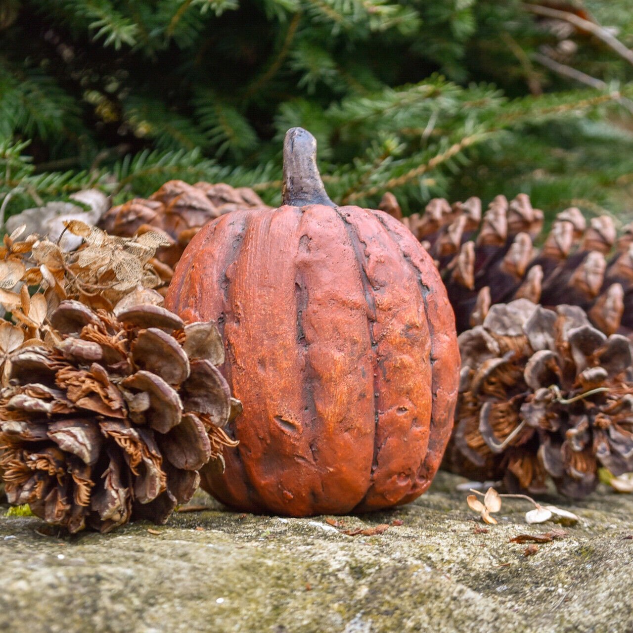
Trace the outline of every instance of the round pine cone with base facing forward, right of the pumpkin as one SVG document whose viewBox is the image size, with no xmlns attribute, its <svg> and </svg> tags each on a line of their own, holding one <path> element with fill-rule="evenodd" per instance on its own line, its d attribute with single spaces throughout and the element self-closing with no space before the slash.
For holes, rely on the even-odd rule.
<svg viewBox="0 0 633 633">
<path fill-rule="evenodd" d="M 510 491 L 573 498 L 599 465 L 633 471 L 633 367 L 627 337 L 606 336 L 579 306 L 528 299 L 491 306 L 460 335 L 461 380 L 444 467 Z"/>
</svg>

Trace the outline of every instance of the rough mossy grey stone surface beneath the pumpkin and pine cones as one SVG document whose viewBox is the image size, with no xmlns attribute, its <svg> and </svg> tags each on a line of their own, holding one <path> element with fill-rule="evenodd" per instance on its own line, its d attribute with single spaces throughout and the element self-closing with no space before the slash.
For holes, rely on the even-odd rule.
<svg viewBox="0 0 633 633">
<path fill-rule="evenodd" d="M 504 500 L 499 525 L 468 510 L 461 479 L 440 473 L 408 506 L 326 522 L 211 510 L 64 536 L 32 517 L 0 517 L 0 630 L 42 632 L 344 632 L 633 630 L 633 497 L 601 487 L 568 537 L 527 525 L 529 504 Z M 487 528 L 487 532 L 480 529 Z M 159 534 L 149 532 L 156 530 Z M 479 529 L 479 531 L 478 531 Z"/>
</svg>

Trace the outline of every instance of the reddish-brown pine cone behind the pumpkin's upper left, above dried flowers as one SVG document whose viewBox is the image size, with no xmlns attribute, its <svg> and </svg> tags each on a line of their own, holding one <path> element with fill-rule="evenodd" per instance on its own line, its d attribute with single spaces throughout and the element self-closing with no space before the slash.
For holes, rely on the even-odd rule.
<svg viewBox="0 0 633 633">
<path fill-rule="evenodd" d="M 132 237 L 148 229 L 159 229 L 172 244 L 158 251 L 156 257 L 173 269 L 191 238 L 209 220 L 237 209 L 265 207 L 260 197 L 248 187 L 197 182 L 188 185 L 170 180 L 149 199 L 134 198 L 113 206 L 101 220 L 101 228 L 111 235 Z M 169 275 L 163 268 L 164 275 Z M 168 281 L 168 279 L 166 279 Z"/>
</svg>

